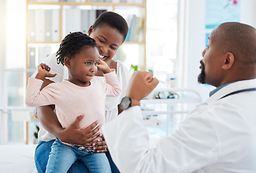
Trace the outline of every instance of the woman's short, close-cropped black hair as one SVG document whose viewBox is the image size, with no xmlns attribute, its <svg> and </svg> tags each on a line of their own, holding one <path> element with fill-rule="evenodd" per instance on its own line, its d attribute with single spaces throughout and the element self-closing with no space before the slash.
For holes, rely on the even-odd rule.
<svg viewBox="0 0 256 173">
<path fill-rule="evenodd" d="M 93 24 L 93 30 L 96 30 L 100 25 L 109 25 L 115 28 L 123 35 L 123 42 L 128 32 L 128 24 L 125 19 L 115 12 L 102 12 Z"/>
</svg>

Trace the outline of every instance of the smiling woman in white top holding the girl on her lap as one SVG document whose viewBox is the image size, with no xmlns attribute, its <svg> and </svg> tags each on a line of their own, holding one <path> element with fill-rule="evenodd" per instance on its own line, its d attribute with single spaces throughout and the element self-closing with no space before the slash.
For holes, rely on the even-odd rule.
<svg viewBox="0 0 256 173">
<path fill-rule="evenodd" d="M 115 12 L 102 13 L 100 17 L 95 20 L 94 25 L 92 25 L 88 31 L 88 35 L 94 38 L 97 43 L 102 61 L 105 61 L 110 68 L 115 68 L 118 81 L 122 89 L 122 93 L 119 97 L 106 99 L 105 116 L 107 121 L 112 120 L 113 117 L 118 115 L 118 104 L 120 103 L 120 99 L 125 96 L 128 80 L 130 79 L 129 71 L 127 68 L 125 68 L 123 63 L 120 61 L 114 61 L 112 59 L 115 57 L 115 53 L 117 52 L 118 48 L 120 48 L 120 45 L 122 45 L 124 42 L 127 32 L 127 22 L 125 22 L 123 17 Z M 48 56 L 44 63 L 50 66 L 51 73 L 57 75 L 54 78 L 45 79 L 42 87 L 47 86 L 52 82 L 62 81 L 66 78 L 67 69 L 63 68 L 62 65 L 57 63 L 55 53 Z M 97 76 L 104 80 L 100 71 L 98 71 Z M 89 145 L 94 138 L 97 138 L 97 136 L 94 136 L 94 134 L 100 129 L 100 127 L 96 127 L 97 122 L 92 123 L 92 125 L 89 125 L 88 128 L 84 128 L 82 130 L 79 129 L 79 122 L 82 119 L 82 116 L 77 117 L 75 122 L 70 125 L 69 128 L 63 129 L 53 110 L 54 105 L 37 107 L 37 118 L 40 121 L 40 131 L 38 133 L 40 142 L 35 150 L 35 164 L 38 172 L 45 172 L 48 156 L 50 154 L 50 148 L 53 141 L 55 141 L 55 138 L 58 138 L 66 143 Z M 115 167 L 115 164 L 112 162 L 109 152 L 107 151 L 105 141 L 103 140 L 101 142 L 94 143 L 94 145 L 94 149 L 96 149 L 97 152 L 107 154 L 112 172 L 119 172 Z M 84 167 L 81 162 L 76 161 L 69 169 L 69 172 L 81 172 L 81 170 L 86 172 L 87 168 Z"/>
</svg>

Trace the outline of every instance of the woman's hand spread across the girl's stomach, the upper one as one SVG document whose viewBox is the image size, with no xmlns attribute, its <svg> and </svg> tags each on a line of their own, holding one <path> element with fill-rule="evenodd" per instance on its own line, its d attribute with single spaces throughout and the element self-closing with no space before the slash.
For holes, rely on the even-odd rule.
<svg viewBox="0 0 256 173">
<path fill-rule="evenodd" d="M 94 123 L 92 123 L 92 125 L 89 125 L 87 128 L 81 129 L 79 127 L 79 123 L 83 117 L 84 115 L 76 117 L 74 123 L 69 125 L 69 128 L 62 130 L 61 133 L 58 134 L 57 138 L 66 143 L 74 143 L 76 145 L 83 146 L 92 146 L 92 141 L 94 141 L 94 139 L 96 139 L 100 135 L 98 132 L 101 127 L 100 125 L 98 125 L 99 122 L 95 121 Z"/>
</svg>

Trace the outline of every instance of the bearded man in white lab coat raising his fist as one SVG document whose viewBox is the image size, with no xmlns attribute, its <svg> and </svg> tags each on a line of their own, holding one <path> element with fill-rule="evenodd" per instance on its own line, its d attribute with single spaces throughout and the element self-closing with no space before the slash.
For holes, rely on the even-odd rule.
<svg viewBox="0 0 256 173">
<path fill-rule="evenodd" d="M 256 172 L 256 30 L 228 22 L 208 39 L 198 81 L 216 89 L 152 149 L 139 101 L 158 81 L 133 75 L 125 111 L 102 127 L 120 172 Z"/>
</svg>

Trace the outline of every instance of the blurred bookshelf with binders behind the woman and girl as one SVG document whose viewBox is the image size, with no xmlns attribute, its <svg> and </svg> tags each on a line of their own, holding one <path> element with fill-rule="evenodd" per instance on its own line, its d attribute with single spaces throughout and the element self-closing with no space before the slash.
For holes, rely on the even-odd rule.
<svg viewBox="0 0 256 173">
<path fill-rule="evenodd" d="M 125 43 L 116 58 L 129 68 L 146 67 L 146 0 L 27 0 L 27 68 L 36 69 L 58 50 L 69 32 L 87 33 L 105 11 L 117 12 L 128 22 Z M 30 72 L 27 76 L 31 76 Z"/>
</svg>

